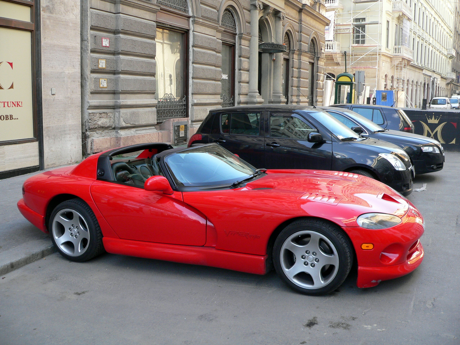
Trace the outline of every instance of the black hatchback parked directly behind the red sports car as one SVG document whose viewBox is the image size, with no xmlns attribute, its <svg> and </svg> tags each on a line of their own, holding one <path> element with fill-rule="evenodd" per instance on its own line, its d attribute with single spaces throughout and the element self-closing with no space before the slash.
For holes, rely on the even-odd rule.
<svg viewBox="0 0 460 345">
<path fill-rule="evenodd" d="M 412 192 L 413 167 L 394 144 L 363 137 L 327 112 L 294 105 L 214 109 L 189 146 L 219 143 L 257 168 L 356 173 Z"/>
</svg>

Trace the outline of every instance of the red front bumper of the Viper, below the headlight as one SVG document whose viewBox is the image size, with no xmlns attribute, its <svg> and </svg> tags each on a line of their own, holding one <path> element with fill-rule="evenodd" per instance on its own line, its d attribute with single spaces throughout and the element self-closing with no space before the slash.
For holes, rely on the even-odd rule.
<svg viewBox="0 0 460 345">
<path fill-rule="evenodd" d="M 423 260 L 420 243 L 423 218 L 409 202 L 408 212 L 397 226 L 382 230 L 361 227 L 344 228 L 355 247 L 358 261 L 358 288 L 370 288 L 379 282 L 404 276 L 415 270 Z M 363 243 L 372 243 L 371 250 L 362 249 Z"/>
</svg>

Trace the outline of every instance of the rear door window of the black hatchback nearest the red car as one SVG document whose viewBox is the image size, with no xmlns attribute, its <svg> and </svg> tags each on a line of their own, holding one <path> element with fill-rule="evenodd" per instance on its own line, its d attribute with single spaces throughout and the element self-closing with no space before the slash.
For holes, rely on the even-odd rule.
<svg viewBox="0 0 460 345">
<path fill-rule="evenodd" d="M 260 113 L 223 114 L 220 122 L 222 133 L 259 135 Z"/>
</svg>

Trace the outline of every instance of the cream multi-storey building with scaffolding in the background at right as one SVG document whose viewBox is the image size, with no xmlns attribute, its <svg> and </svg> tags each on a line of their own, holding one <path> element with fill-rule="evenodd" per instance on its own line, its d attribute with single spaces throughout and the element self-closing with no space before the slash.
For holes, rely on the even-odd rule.
<svg viewBox="0 0 460 345">
<path fill-rule="evenodd" d="M 334 25 L 326 41 L 328 78 L 365 72 L 365 86 L 394 90 L 397 106 L 449 95 L 454 57 L 450 0 L 326 0 Z M 362 98 L 366 100 L 366 97 Z"/>
</svg>

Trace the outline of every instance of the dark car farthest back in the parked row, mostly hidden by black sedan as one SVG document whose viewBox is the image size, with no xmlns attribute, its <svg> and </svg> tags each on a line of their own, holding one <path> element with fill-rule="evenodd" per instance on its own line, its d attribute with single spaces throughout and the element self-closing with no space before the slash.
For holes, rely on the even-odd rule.
<svg viewBox="0 0 460 345">
<path fill-rule="evenodd" d="M 401 108 L 370 104 L 334 104 L 331 107 L 353 110 L 384 129 L 414 133 L 414 124 Z"/>
</svg>

